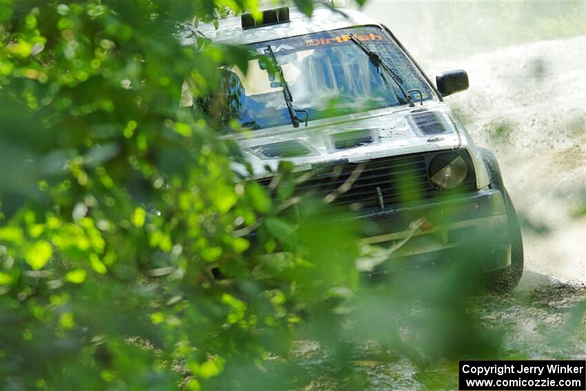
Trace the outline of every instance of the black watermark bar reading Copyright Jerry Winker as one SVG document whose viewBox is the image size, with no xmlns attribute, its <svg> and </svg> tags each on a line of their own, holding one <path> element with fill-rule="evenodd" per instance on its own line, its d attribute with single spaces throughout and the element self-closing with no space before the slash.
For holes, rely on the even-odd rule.
<svg viewBox="0 0 586 391">
<path fill-rule="evenodd" d="M 460 390 L 586 390 L 586 361 L 460 361 Z"/>
</svg>

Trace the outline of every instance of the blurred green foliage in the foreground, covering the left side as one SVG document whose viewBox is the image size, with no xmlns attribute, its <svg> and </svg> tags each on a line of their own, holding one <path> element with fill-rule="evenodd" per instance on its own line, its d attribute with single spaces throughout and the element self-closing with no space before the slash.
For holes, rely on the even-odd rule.
<svg viewBox="0 0 586 391">
<path fill-rule="evenodd" d="M 179 108 L 183 81 L 205 96 L 248 59 L 197 33 L 181 46 L 179 22 L 257 8 L 1 1 L 0 389 L 290 389 L 307 383 L 300 337 L 356 389 L 347 365 L 369 339 L 419 368 L 495 357 L 465 266 L 394 270 L 356 294 L 358 228 L 292 198 L 290 165 L 276 197 L 235 177 L 239 149 Z M 323 223 L 292 222 L 294 204 Z"/>
</svg>

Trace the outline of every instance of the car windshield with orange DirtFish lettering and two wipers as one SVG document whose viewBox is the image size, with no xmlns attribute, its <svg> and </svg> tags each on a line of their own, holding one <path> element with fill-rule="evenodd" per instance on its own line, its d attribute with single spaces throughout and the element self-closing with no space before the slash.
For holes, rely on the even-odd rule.
<svg viewBox="0 0 586 391">
<path fill-rule="evenodd" d="M 249 61 L 246 74 L 237 67 L 224 70 L 221 131 L 230 132 L 234 120 L 255 130 L 292 123 L 279 75 L 271 76 L 259 61 L 260 56 L 272 61 L 269 45 L 283 70 L 294 109 L 307 110 L 310 121 L 405 104 L 401 88 L 383 66 L 374 66 L 351 34 L 394 71 L 403 91 L 416 89 L 423 100 L 432 98 L 411 61 L 381 28 L 332 30 L 252 44 L 250 48 L 258 55 Z M 417 92 L 411 94 L 414 101 L 419 100 Z M 195 106 L 211 111 L 206 109 L 210 104 L 196 102 Z M 306 113 L 298 112 L 301 123 Z"/>
</svg>

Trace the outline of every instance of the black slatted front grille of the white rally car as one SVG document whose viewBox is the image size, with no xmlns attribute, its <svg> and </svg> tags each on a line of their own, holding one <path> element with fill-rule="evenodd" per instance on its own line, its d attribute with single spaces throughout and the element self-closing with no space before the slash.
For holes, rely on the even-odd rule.
<svg viewBox="0 0 586 391">
<path fill-rule="evenodd" d="M 432 155 L 427 154 L 427 157 L 431 159 Z M 312 175 L 301 173 L 309 179 L 296 186 L 296 195 L 320 197 L 334 205 L 348 205 L 354 210 L 429 198 L 439 190 L 427 177 L 428 160 L 425 154 L 416 154 L 320 166 L 312 170 Z M 336 189 L 349 181 L 354 170 L 362 172 L 347 191 L 336 194 Z M 261 179 L 260 182 L 268 186 L 271 180 Z M 472 178 L 468 178 L 463 188 L 473 186 Z"/>
</svg>

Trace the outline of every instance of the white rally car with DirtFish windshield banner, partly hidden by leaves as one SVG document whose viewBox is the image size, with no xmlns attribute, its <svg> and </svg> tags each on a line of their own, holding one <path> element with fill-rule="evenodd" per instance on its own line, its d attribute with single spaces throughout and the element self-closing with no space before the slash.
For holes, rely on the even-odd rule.
<svg viewBox="0 0 586 391">
<path fill-rule="evenodd" d="M 216 27 L 199 30 L 257 54 L 246 73 L 223 70 L 219 130 L 241 146 L 242 175 L 274 191 L 279 164 L 291 162 L 296 194 L 350 211 L 339 216 L 365 222 L 363 245 L 390 249 L 384 262 L 362 265 L 369 275 L 466 249 L 492 286 L 516 286 L 523 243 L 498 163 L 443 101 L 468 88 L 465 71 L 432 83 L 386 26 L 356 10 L 279 8 Z M 189 94 L 182 104 L 211 110 Z"/>
</svg>

